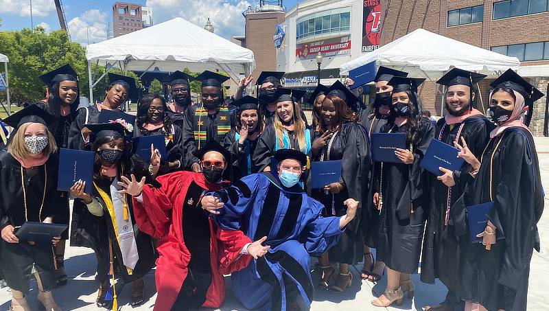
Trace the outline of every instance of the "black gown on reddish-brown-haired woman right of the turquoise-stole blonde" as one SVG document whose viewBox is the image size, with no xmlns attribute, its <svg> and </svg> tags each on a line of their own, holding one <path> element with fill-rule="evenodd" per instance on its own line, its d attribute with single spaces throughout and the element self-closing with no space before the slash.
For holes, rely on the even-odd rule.
<svg viewBox="0 0 549 311">
<path fill-rule="evenodd" d="M 317 133 L 318 135 L 320 134 Z M 362 204 L 366 198 L 366 189 L 369 185 L 370 145 L 366 130 L 360 124 L 353 122 L 343 124 L 337 135 L 333 136 L 331 140 L 333 142 L 328 141 L 327 143 L 327 146 L 331 145 L 329 157 L 327 147 L 325 147 L 318 152 L 313 161 L 320 161 L 321 154 L 323 154 L 325 161 L 342 160 L 340 183 L 343 183 L 345 187 L 338 194 L 326 194 L 323 189 L 312 189 L 311 196 L 324 205 L 323 216 L 325 217 L 346 214 L 347 208 L 343 205 L 343 202 L 348 198 L 360 202 L 357 216 L 351 223 L 347 224 L 347 229 L 342 233 L 338 244 L 329 250 L 330 260 L 343 264 L 357 264 L 361 261 L 362 253 L 364 253 L 364 240 L 360 231 L 360 222 Z M 334 207 L 334 210 L 332 210 L 332 207 Z"/>
</svg>

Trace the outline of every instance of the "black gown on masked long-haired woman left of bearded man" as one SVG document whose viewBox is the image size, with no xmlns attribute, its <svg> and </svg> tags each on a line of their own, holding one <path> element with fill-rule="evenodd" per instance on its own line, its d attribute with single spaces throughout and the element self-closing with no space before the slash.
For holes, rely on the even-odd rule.
<svg viewBox="0 0 549 311">
<path fill-rule="evenodd" d="M 404 126 L 388 123 L 382 133 L 404 133 Z M 414 273 L 419 264 L 423 227 L 429 203 L 429 172 L 419 166 L 431 139 L 434 126 L 423 124 L 421 139 L 413 146 L 414 163 L 375 162 L 369 197 L 371 213 L 368 231 L 377 251 L 377 260 L 402 273 Z M 408 141 L 408 146 L 410 142 Z M 382 173 L 382 174 L 380 174 Z M 373 206 L 373 194 L 379 192 L 381 177 L 382 209 Z M 412 212 L 413 211 L 413 212 Z"/>
</svg>

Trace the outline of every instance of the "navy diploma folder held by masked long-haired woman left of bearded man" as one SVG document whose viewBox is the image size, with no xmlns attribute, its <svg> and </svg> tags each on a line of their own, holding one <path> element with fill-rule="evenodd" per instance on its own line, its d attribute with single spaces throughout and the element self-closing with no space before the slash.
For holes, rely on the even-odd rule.
<svg viewBox="0 0 549 311">
<path fill-rule="evenodd" d="M 406 149 L 404 133 L 372 133 L 372 159 L 375 162 L 402 163 L 395 150 Z"/>
</svg>

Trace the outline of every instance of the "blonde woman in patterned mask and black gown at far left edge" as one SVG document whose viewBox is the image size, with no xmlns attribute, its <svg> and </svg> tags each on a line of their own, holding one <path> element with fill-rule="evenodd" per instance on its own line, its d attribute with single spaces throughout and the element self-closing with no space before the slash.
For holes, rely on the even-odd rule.
<svg viewBox="0 0 549 311">
<path fill-rule="evenodd" d="M 57 191 L 56 141 L 47 129 L 55 121 L 36 105 L 4 120 L 15 128 L 8 150 L 0 151 L 1 269 L 12 292 L 10 310 L 31 310 L 25 295 L 33 266 L 38 308 L 61 310 L 51 296 L 51 288 L 56 286 L 53 246 L 61 237 L 48 243 L 20 241 L 15 235 L 16 227 L 27 221 L 56 222 L 56 209 L 65 200 Z"/>
</svg>

